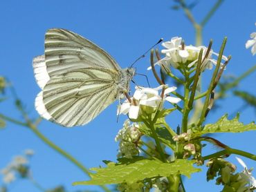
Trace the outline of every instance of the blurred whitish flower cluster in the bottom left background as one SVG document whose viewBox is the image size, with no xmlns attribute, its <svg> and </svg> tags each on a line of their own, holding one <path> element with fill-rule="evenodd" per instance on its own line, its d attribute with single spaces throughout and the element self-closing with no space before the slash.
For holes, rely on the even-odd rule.
<svg viewBox="0 0 256 192">
<path fill-rule="evenodd" d="M 18 173 L 21 177 L 28 176 L 28 157 L 33 155 L 33 151 L 28 149 L 25 151 L 25 155 L 17 155 L 13 160 L 3 169 L 1 169 L 1 174 L 3 175 L 3 182 L 9 184 L 16 179 L 16 174 Z"/>
</svg>

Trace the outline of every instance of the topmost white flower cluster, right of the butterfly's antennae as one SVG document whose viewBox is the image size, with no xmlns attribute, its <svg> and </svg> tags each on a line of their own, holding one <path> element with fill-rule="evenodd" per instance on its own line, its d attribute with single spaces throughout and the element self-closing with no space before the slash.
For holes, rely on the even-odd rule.
<svg viewBox="0 0 256 192">
<path fill-rule="evenodd" d="M 212 64 L 216 65 L 217 60 L 213 58 L 213 56 L 219 56 L 213 50 L 208 52 L 208 48 L 205 46 L 183 46 L 181 37 L 173 37 L 170 41 L 163 42 L 163 49 L 161 52 L 165 54 L 165 57 L 158 62 L 156 65 L 162 66 L 165 70 L 170 68 L 170 65 L 174 68 L 179 68 L 182 66 L 188 66 L 188 68 L 192 68 L 196 66 L 198 61 L 199 52 L 203 49 L 203 64 L 201 65 L 201 70 L 205 70 L 205 68 L 212 69 Z M 222 56 L 224 61 L 228 61 L 226 56 Z M 148 68 L 148 70 L 151 67 Z"/>
</svg>

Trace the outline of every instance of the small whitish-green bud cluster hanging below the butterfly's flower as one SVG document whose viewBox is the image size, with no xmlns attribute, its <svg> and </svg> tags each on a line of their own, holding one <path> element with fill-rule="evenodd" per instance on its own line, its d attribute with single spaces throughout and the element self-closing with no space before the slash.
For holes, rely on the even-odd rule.
<svg viewBox="0 0 256 192">
<path fill-rule="evenodd" d="M 116 135 L 115 141 L 119 143 L 118 157 L 132 158 L 138 154 L 138 141 L 140 140 L 141 133 L 138 129 L 138 124 L 133 123 L 127 119 Z"/>
</svg>

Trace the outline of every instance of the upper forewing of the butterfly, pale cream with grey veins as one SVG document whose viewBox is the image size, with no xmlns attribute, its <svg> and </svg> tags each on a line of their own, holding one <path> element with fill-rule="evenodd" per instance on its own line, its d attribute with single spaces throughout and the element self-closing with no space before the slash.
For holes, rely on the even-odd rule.
<svg viewBox="0 0 256 192">
<path fill-rule="evenodd" d="M 102 48 L 74 32 L 53 28 L 45 36 L 45 61 L 50 77 L 77 68 L 121 70 Z"/>
</svg>

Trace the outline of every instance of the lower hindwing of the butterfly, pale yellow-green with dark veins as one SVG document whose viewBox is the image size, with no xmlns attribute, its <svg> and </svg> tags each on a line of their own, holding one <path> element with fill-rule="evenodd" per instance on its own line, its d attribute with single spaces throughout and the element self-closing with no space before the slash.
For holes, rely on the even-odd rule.
<svg viewBox="0 0 256 192">
<path fill-rule="evenodd" d="M 44 87 L 45 108 L 58 124 L 86 124 L 116 100 L 115 79 L 118 79 L 115 71 L 97 68 L 80 68 L 56 75 Z"/>
</svg>

